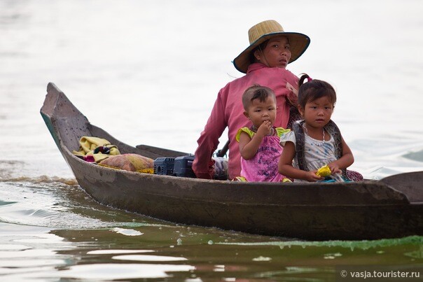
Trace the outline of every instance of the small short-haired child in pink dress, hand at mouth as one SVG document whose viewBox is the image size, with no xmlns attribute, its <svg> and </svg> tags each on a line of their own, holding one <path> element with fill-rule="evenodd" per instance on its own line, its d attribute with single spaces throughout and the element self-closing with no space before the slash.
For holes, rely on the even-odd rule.
<svg viewBox="0 0 423 282">
<path fill-rule="evenodd" d="M 238 130 L 240 143 L 241 177 L 239 181 L 279 182 L 277 162 L 282 154 L 279 139 L 289 129 L 273 127 L 276 118 L 276 97 L 269 87 L 253 85 L 242 95 L 244 115 L 251 120 L 251 127 Z"/>
</svg>

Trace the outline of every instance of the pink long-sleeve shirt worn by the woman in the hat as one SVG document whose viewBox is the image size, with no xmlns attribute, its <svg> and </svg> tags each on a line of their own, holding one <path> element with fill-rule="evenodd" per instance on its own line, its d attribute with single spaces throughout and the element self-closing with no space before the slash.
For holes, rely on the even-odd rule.
<svg viewBox="0 0 423 282">
<path fill-rule="evenodd" d="M 195 150 L 193 162 L 193 170 L 197 178 L 213 178 L 209 171 L 209 162 L 219 144 L 219 137 L 226 127 L 228 127 L 228 139 L 230 140 L 229 178 L 240 176 L 241 154 L 240 146 L 235 141 L 235 135 L 238 129 L 251 125 L 244 115 L 242 94 L 254 84 L 267 86 L 275 92 L 277 115 L 273 126 L 286 128 L 289 120 L 287 99 L 297 101 L 298 77 L 286 69 L 269 68 L 260 63 L 251 64 L 245 76 L 231 81 L 219 91 L 209 120 L 197 140 L 198 147 Z"/>
</svg>

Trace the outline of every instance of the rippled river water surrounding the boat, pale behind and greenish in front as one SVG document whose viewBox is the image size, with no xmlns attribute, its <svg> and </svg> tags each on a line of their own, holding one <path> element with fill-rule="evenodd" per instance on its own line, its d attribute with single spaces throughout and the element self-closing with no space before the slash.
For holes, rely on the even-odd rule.
<svg viewBox="0 0 423 282">
<path fill-rule="evenodd" d="M 99 205 L 39 115 L 53 82 L 121 141 L 193 152 L 217 92 L 242 76 L 231 61 L 247 30 L 275 19 L 312 38 L 289 69 L 334 85 L 352 169 L 420 171 L 422 12 L 419 0 L 0 0 L 0 280 L 335 281 L 342 266 L 423 276 L 423 237 L 298 241 Z"/>
</svg>

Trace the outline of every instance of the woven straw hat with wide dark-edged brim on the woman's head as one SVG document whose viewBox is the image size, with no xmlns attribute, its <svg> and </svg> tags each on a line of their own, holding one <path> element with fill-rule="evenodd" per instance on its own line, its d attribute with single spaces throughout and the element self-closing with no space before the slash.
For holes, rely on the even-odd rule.
<svg viewBox="0 0 423 282">
<path fill-rule="evenodd" d="M 264 41 L 278 35 L 284 35 L 289 38 L 289 43 L 291 45 L 291 60 L 289 63 L 303 55 L 303 52 L 307 49 L 308 45 L 310 45 L 310 38 L 307 35 L 298 32 L 285 32 L 279 22 L 275 20 L 265 20 L 249 29 L 248 37 L 250 45 L 233 60 L 235 68 L 242 73 L 247 73 L 248 66 L 251 64 L 251 51 Z"/>
</svg>

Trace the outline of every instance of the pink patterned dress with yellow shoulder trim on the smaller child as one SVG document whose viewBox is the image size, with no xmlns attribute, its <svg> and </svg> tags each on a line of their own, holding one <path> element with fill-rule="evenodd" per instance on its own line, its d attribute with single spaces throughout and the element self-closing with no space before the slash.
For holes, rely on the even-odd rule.
<svg viewBox="0 0 423 282">
<path fill-rule="evenodd" d="M 273 127 L 275 134 L 264 136 L 256 155 L 250 160 L 244 160 L 241 157 L 241 176 L 247 181 L 265 181 L 265 182 L 280 182 L 285 176 L 279 174 L 277 170 L 277 163 L 282 154 L 282 146 L 280 145 L 280 136 L 289 129 L 282 127 Z M 238 130 L 236 140 L 240 141 L 241 132 L 249 134 L 250 138 L 256 134 L 248 127 L 242 127 Z"/>
</svg>

